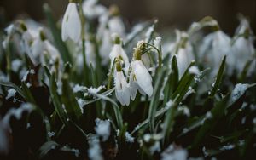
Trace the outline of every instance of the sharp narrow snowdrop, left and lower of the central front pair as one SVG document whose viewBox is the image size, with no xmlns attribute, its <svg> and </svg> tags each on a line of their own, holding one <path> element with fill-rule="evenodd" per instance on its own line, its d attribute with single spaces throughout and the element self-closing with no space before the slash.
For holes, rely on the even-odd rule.
<svg viewBox="0 0 256 160">
<path fill-rule="evenodd" d="M 125 80 L 125 76 L 122 72 L 122 66 L 120 61 L 117 60 L 116 63 L 116 73 L 114 77 L 115 81 L 115 96 L 122 106 L 129 106 L 130 104 L 130 90 L 128 83 Z"/>
</svg>

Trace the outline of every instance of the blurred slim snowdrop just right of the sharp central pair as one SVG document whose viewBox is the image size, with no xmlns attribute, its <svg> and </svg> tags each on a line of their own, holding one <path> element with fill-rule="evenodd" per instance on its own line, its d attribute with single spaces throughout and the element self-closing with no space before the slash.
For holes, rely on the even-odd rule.
<svg viewBox="0 0 256 160">
<path fill-rule="evenodd" d="M 193 49 L 191 43 L 189 43 L 189 36 L 185 32 L 177 34 L 177 39 L 180 39 L 177 43 L 177 67 L 178 67 L 178 76 L 179 78 L 183 76 L 186 69 L 189 67 L 189 64 L 194 60 Z"/>
</svg>

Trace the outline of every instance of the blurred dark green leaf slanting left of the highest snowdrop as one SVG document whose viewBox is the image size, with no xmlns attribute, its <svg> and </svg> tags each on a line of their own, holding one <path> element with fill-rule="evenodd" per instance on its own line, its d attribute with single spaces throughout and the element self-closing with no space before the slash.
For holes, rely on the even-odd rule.
<svg viewBox="0 0 256 160">
<path fill-rule="evenodd" d="M 63 43 L 61 39 L 61 31 L 59 30 L 59 28 L 57 28 L 53 14 L 52 14 L 52 10 L 49 8 L 49 5 L 47 3 L 44 3 L 43 10 L 49 25 L 49 29 L 54 37 L 55 45 L 61 53 L 62 60 L 64 62 L 69 61 L 70 63 L 72 63 L 73 62 L 72 57 L 68 52 L 66 44 Z"/>
</svg>

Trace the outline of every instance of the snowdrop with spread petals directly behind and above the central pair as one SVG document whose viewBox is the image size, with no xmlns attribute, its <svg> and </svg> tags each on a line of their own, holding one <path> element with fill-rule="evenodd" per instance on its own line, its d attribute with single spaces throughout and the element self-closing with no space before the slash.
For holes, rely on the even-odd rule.
<svg viewBox="0 0 256 160">
<path fill-rule="evenodd" d="M 117 34 L 113 34 L 113 48 L 109 54 L 109 58 L 111 60 L 111 66 L 113 66 L 113 60 L 119 58 L 125 63 L 125 73 L 127 73 L 129 68 L 129 59 L 127 54 L 125 54 L 125 50 L 122 48 L 122 40 Z"/>
</svg>

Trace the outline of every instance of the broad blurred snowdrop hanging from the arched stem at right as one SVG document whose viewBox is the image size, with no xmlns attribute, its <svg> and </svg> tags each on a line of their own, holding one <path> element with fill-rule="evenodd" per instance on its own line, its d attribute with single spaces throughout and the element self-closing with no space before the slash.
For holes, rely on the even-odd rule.
<svg viewBox="0 0 256 160">
<path fill-rule="evenodd" d="M 200 57 L 206 64 L 212 67 L 212 74 L 215 75 L 218 72 L 218 67 L 224 57 L 227 55 L 227 64 L 229 73 L 232 71 L 231 66 L 233 66 L 234 60 L 232 60 L 230 37 L 227 36 L 223 31 L 218 29 L 216 26 L 216 31 L 204 37 L 203 43 L 200 48 Z"/>
</svg>

